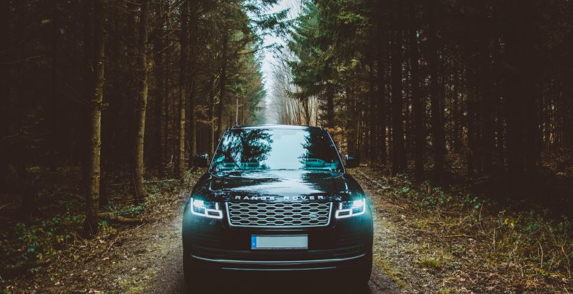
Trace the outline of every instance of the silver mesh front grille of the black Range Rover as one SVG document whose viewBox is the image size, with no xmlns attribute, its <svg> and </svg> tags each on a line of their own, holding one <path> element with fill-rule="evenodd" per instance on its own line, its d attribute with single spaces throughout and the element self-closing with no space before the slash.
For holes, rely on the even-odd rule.
<svg viewBox="0 0 573 294">
<path fill-rule="evenodd" d="M 226 203 L 231 226 L 328 226 L 331 203 Z"/>
</svg>

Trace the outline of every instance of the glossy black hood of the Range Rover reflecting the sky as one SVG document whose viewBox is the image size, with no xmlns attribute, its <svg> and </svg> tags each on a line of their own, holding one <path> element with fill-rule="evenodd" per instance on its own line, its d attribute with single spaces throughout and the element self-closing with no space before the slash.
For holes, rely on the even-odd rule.
<svg viewBox="0 0 573 294">
<path fill-rule="evenodd" d="M 354 179 L 340 172 L 266 170 L 208 173 L 194 195 L 227 202 L 331 202 L 352 194 Z"/>
</svg>

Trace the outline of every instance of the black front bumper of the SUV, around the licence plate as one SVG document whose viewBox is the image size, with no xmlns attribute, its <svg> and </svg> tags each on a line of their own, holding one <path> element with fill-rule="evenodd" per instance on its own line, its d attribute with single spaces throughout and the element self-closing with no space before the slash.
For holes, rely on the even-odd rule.
<svg viewBox="0 0 573 294">
<path fill-rule="evenodd" d="M 303 229 L 237 228 L 226 218 L 206 219 L 184 214 L 185 262 L 204 270 L 332 271 L 352 270 L 368 263 L 372 248 L 372 217 L 368 212 L 331 219 L 325 227 Z M 308 249 L 252 250 L 252 235 L 308 235 Z"/>
</svg>

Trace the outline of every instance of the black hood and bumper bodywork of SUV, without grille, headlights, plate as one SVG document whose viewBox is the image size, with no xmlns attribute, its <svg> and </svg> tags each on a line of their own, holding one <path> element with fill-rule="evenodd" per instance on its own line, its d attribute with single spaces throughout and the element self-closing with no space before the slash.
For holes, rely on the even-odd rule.
<svg viewBox="0 0 573 294">
<path fill-rule="evenodd" d="M 207 219 L 189 213 L 189 200 L 184 207 L 182 237 L 184 262 L 203 270 L 354 270 L 368 260 L 363 256 L 372 248 L 372 213 L 370 205 L 361 216 L 335 219 L 335 205 L 340 201 L 365 198 L 354 177 L 342 172 L 312 170 L 240 170 L 205 172 L 191 191 L 196 199 L 222 205 L 227 202 L 326 202 L 333 203 L 328 226 L 312 228 L 236 228 L 223 219 Z M 285 198 L 286 196 L 286 198 Z M 314 199 L 313 199 L 314 198 Z M 224 208 L 225 209 L 225 208 Z M 225 215 L 225 213 L 224 213 Z M 307 234 L 308 249 L 252 251 L 251 235 Z M 210 260 L 331 260 L 348 258 L 340 263 L 309 265 L 233 265 Z M 354 259 L 354 257 L 360 257 Z"/>
</svg>

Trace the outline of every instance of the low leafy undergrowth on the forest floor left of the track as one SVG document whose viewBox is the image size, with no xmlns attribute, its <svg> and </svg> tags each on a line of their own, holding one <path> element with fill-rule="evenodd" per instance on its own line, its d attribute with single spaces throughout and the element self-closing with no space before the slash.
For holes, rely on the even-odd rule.
<svg viewBox="0 0 573 294">
<path fill-rule="evenodd" d="M 3 293 L 22 293 L 25 288 L 20 286 L 31 286 L 27 281 L 38 277 L 45 288 L 59 286 L 63 283 L 59 279 L 69 269 L 85 267 L 90 260 L 115 263 L 117 247 L 137 233 L 138 228 L 173 217 L 173 210 L 179 212 L 178 207 L 186 198 L 182 193 L 189 191 L 202 171 L 189 170 L 182 180 L 148 177 L 144 182 L 148 196 L 139 205 L 125 197 L 132 189 L 128 177 L 110 177 L 113 179 L 108 184 L 110 204 L 101 207 L 99 233 L 93 236 L 85 235 L 82 227 L 85 207 L 78 193 L 82 186 L 78 170 L 35 172 L 41 187 L 38 192 L 41 217 L 21 219 L 17 216 L 17 205 L 2 207 L 0 292 Z M 66 181 L 58 180 L 64 178 Z"/>
</svg>

